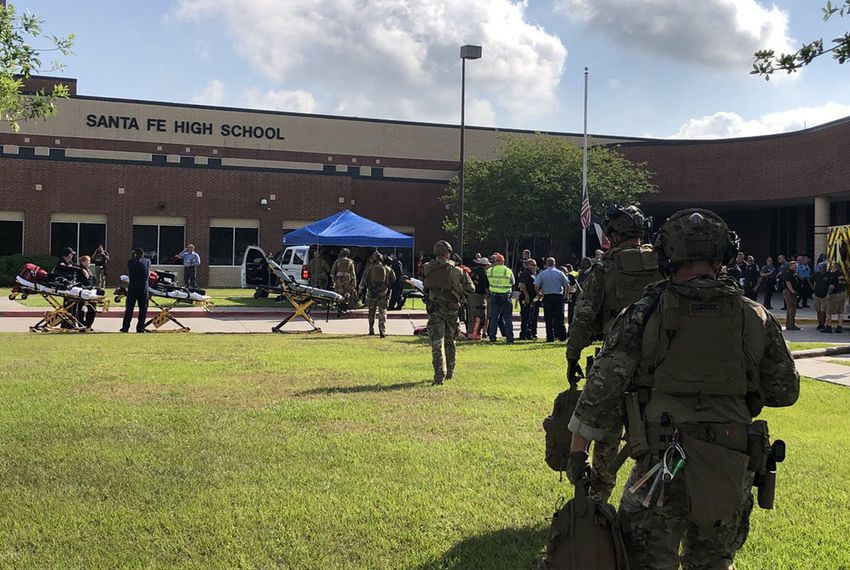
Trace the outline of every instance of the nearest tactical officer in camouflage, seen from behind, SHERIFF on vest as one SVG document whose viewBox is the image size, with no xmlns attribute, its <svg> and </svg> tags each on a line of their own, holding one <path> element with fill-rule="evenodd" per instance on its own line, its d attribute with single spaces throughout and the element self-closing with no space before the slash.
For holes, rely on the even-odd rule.
<svg viewBox="0 0 850 570">
<path fill-rule="evenodd" d="M 616 441 L 625 423 L 630 566 L 734 568 L 766 465 L 767 424 L 753 418 L 796 402 L 800 379 L 779 324 L 717 277 L 737 252 L 719 216 L 677 212 L 655 246 L 669 279 L 611 325 L 570 420 L 567 472 L 584 478 L 589 441 Z"/>
</svg>

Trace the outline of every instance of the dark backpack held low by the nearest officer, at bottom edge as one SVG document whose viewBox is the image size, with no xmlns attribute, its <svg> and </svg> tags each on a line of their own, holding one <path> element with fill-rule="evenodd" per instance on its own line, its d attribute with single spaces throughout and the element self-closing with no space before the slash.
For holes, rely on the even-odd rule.
<svg viewBox="0 0 850 570">
<path fill-rule="evenodd" d="M 552 515 L 541 570 L 628 570 L 629 560 L 617 511 L 587 496 L 587 479 L 575 496 Z"/>
</svg>

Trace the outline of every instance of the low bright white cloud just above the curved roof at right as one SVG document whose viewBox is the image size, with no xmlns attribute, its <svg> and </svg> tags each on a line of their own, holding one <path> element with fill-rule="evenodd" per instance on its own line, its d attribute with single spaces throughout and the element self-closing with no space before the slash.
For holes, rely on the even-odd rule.
<svg viewBox="0 0 850 570">
<path fill-rule="evenodd" d="M 767 113 L 758 119 L 745 120 L 737 113 L 721 111 L 713 115 L 690 119 L 682 125 L 673 139 L 718 139 L 751 137 L 797 131 L 814 127 L 850 115 L 850 105 L 829 102 L 819 107 L 799 107 Z"/>
</svg>

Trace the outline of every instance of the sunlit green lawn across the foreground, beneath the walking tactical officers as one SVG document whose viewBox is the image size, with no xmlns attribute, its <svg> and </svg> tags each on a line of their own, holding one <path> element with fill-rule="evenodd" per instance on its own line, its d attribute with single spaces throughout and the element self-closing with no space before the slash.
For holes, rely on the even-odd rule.
<svg viewBox="0 0 850 570">
<path fill-rule="evenodd" d="M 569 493 L 561 346 L 463 344 L 436 388 L 412 338 L 0 343 L 0 567 L 533 568 Z M 806 380 L 765 414 L 788 460 L 739 568 L 850 567 L 848 410 Z"/>
</svg>

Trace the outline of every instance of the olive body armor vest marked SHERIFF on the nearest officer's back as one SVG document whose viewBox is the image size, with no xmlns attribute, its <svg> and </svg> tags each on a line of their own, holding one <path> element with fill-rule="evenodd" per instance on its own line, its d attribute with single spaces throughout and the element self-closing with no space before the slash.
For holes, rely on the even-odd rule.
<svg viewBox="0 0 850 570">
<path fill-rule="evenodd" d="M 758 390 L 744 334 L 740 295 L 697 298 L 668 288 L 643 331 L 638 385 L 679 396 L 743 398 Z"/>
</svg>

